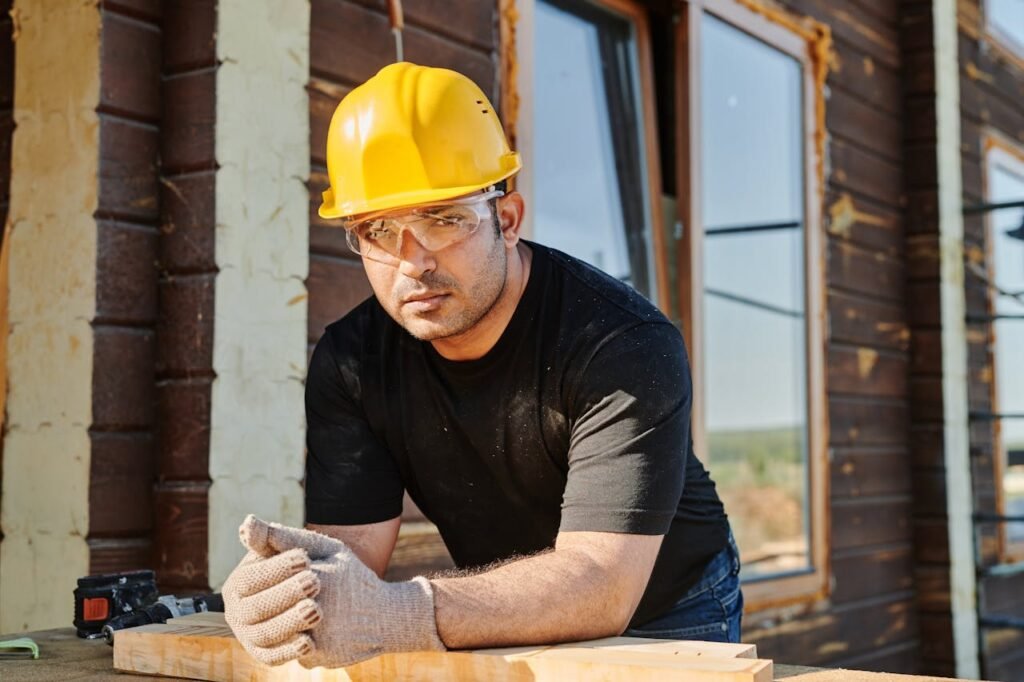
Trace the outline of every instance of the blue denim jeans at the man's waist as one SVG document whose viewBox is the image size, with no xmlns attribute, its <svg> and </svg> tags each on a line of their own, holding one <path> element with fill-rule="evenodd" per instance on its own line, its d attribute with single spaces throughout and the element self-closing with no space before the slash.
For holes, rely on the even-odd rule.
<svg viewBox="0 0 1024 682">
<path fill-rule="evenodd" d="M 668 613 L 624 634 L 652 639 L 738 642 L 742 617 L 739 550 L 730 532 L 729 544 L 708 562 L 700 580 Z"/>
</svg>

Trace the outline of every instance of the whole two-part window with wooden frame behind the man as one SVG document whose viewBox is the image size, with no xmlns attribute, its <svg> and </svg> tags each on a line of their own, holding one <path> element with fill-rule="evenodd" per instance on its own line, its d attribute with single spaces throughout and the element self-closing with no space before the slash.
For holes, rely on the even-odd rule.
<svg viewBox="0 0 1024 682">
<path fill-rule="evenodd" d="M 677 90 L 659 96 L 676 104 L 677 148 L 669 156 L 678 186 L 676 197 L 660 197 L 644 12 L 632 0 L 516 0 L 514 7 L 503 12 L 503 35 L 516 43 L 515 69 L 506 62 L 504 73 L 518 73 L 505 114 L 526 161 L 519 185 L 527 207 L 536 205 L 526 228 L 681 321 L 694 447 L 733 522 L 748 608 L 823 594 L 823 136 L 816 133 L 824 71 L 815 55 L 827 52 L 817 49 L 827 32 L 806 18 L 776 22 L 737 0 L 678 3 L 674 46 L 658 43 L 675 59 L 659 75 L 672 82 L 674 73 Z M 514 31 L 509 13 L 519 17 Z M 674 239 L 658 227 L 662 201 L 678 207 Z"/>
</svg>

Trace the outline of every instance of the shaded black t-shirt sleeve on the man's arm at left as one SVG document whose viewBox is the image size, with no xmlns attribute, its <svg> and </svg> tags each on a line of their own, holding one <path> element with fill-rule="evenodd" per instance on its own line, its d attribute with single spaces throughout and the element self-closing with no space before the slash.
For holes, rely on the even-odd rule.
<svg viewBox="0 0 1024 682">
<path fill-rule="evenodd" d="M 335 348 L 329 329 L 306 377 L 307 523 L 376 523 L 401 514 L 401 476 L 371 430 L 360 395 L 358 360 Z"/>
</svg>

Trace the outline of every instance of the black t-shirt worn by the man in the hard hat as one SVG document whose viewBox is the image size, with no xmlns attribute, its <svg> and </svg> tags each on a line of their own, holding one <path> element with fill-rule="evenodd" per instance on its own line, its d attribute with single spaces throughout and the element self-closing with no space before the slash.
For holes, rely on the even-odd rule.
<svg viewBox="0 0 1024 682">
<path fill-rule="evenodd" d="M 728 536 L 693 454 L 686 349 L 632 288 L 529 247 L 522 298 L 479 359 L 444 359 L 375 298 L 327 328 L 306 380 L 306 520 L 385 521 L 409 491 L 461 567 L 559 530 L 665 534 L 641 625 Z"/>
</svg>

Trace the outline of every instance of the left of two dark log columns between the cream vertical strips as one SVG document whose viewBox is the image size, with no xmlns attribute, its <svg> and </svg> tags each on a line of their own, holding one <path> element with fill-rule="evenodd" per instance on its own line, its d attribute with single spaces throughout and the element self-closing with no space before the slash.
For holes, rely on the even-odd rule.
<svg viewBox="0 0 1024 682">
<path fill-rule="evenodd" d="M 160 3 L 104 0 L 100 11 L 91 572 L 150 563 L 159 310 Z"/>
</svg>

